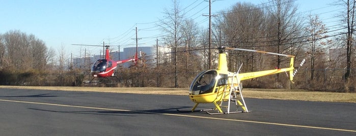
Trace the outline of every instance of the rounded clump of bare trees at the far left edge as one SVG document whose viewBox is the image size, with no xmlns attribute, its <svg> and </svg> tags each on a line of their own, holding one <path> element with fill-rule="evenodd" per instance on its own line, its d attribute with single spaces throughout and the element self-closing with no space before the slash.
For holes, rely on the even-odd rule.
<svg viewBox="0 0 356 136">
<path fill-rule="evenodd" d="M 34 35 L 10 30 L 0 35 L 1 71 L 7 75 L 6 84 L 38 85 L 45 79 L 45 54 L 47 47 Z M 53 54 L 51 54 L 53 55 Z"/>
</svg>

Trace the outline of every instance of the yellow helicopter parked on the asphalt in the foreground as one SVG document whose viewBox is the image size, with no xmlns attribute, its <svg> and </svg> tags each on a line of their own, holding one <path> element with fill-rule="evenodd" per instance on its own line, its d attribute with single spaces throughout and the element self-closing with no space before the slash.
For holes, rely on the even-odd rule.
<svg viewBox="0 0 356 136">
<path fill-rule="evenodd" d="M 229 48 L 229 47 L 218 47 L 219 50 L 219 58 L 218 58 L 218 66 L 217 70 L 207 70 L 203 71 L 193 80 L 189 88 L 189 98 L 193 101 L 195 106 L 191 109 L 191 112 L 194 112 L 199 104 L 202 103 L 212 103 L 217 110 L 217 113 L 210 113 L 210 110 L 201 110 L 206 111 L 209 114 L 229 114 L 229 113 L 241 113 L 241 112 L 249 112 L 245 101 L 242 96 L 242 85 L 240 82 L 242 80 L 282 73 L 289 72 L 289 78 L 292 81 L 293 77 L 296 73 L 294 70 L 294 57 L 292 55 L 285 55 L 279 53 L 265 52 L 265 51 L 257 51 L 257 50 L 249 50 L 249 49 L 239 49 L 239 48 Z M 289 67 L 283 69 L 275 69 L 275 70 L 266 70 L 259 72 L 250 72 L 250 73 L 238 73 L 238 72 L 229 72 L 227 67 L 226 53 L 225 50 L 241 50 L 241 51 L 252 51 L 273 55 L 280 55 L 290 57 L 290 65 Z M 302 61 L 300 66 L 303 65 L 305 59 Z M 241 67 L 239 68 L 241 69 Z M 240 98 L 238 98 L 240 97 Z M 239 100 L 242 100 L 241 101 Z M 235 102 L 236 111 L 230 112 L 231 102 Z M 223 103 L 227 103 L 223 105 Z M 238 108 L 242 108 L 242 111 L 238 111 Z M 223 111 L 222 109 L 226 108 L 227 111 Z"/>
</svg>

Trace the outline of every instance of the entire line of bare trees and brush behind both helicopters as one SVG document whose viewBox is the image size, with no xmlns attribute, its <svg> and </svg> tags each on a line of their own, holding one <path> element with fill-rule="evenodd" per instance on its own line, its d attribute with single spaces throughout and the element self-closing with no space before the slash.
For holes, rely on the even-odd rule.
<svg viewBox="0 0 356 136">
<path fill-rule="evenodd" d="M 212 69 L 216 67 L 217 50 L 212 49 L 209 60 L 207 48 L 211 43 L 212 48 L 226 46 L 295 55 L 296 67 L 304 58 L 307 60 L 294 84 L 281 73 L 245 81 L 244 87 L 354 92 L 355 1 L 337 1 L 335 6 L 344 9 L 338 18 L 339 29 L 326 27 L 318 15 L 305 18 L 292 0 L 271 0 L 261 5 L 237 3 L 213 17 L 209 36 L 208 29 L 186 17 L 179 1 L 172 1 L 172 7 L 165 9 L 165 16 L 157 22 L 165 33 L 159 39 L 160 46 L 170 47 L 171 57 L 157 54 L 157 64 L 147 65 L 145 62 L 153 60 L 143 59 L 142 64 L 119 67 L 115 86 L 189 87 L 199 72 L 209 69 L 209 61 Z M 241 65 L 241 73 L 289 65 L 289 59 L 281 56 L 229 50 L 227 54 L 232 72 Z M 67 60 L 63 53 L 56 55 L 42 40 L 19 30 L 0 35 L 0 59 L 2 85 L 85 86 L 83 81 L 91 79 L 89 66 L 63 67 Z"/>
</svg>

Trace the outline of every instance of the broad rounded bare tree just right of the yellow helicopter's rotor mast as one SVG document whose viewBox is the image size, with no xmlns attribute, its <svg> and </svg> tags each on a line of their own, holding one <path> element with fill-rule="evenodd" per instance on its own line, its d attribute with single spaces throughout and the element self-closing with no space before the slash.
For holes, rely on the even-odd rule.
<svg viewBox="0 0 356 136">
<path fill-rule="evenodd" d="M 234 48 L 258 50 L 264 44 L 265 13 L 251 3 L 237 3 L 227 12 L 217 18 L 213 32 L 215 43 Z M 259 54 L 247 52 L 229 52 L 229 70 L 238 70 L 238 64 L 247 64 L 244 70 L 254 71 Z"/>
</svg>

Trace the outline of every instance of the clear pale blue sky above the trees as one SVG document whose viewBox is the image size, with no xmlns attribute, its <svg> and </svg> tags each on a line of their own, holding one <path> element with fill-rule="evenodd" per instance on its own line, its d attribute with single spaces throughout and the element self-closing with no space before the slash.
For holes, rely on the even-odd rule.
<svg viewBox="0 0 356 136">
<path fill-rule="evenodd" d="M 212 13 L 227 10 L 238 2 L 262 4 L 268 0 L 234 1 L 219 0 L 212 3 Z M 332 25 L 340 7 L 328 4 L 334 0 L 297 0 L 298 12 L 303 16 L 318 14 L 326 25 Z M 43 40 L 56 52 L 63 47 L 67 54 L 79 55 L 87 49 L 90 54 L 99 54 L 101 47 L 80 47 L 71 44 L 102 45 L 103 42 L 123 47 L 134 47 L 135 27 L 138 27 L 140 46 L 152 46 L 160 31 L 156 27 L 165 9 L 172 7 L 170 0 L 112 0 L 112 1 L 68 1 L 68 0 L 0 0 L 0 33 L 20 30 Z M 202 27 L 208 28 L 208 2 L 204 0 L 180 0 L 186 16 Z M 112 50 L 119 50 L 113 47 Z"/>
</svg>

